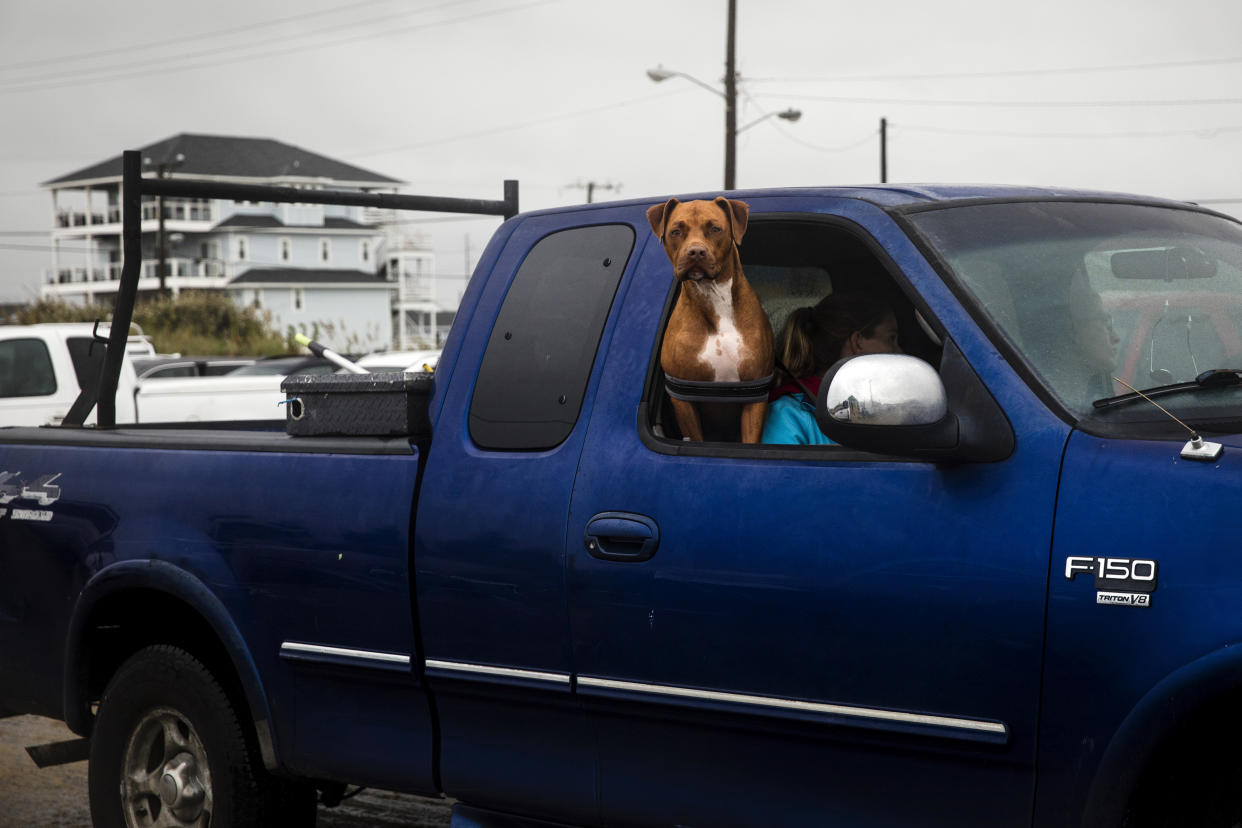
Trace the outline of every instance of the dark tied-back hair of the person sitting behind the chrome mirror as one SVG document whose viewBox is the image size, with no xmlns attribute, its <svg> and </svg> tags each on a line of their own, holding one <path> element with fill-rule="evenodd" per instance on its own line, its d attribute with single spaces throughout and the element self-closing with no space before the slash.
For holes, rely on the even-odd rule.
<svg viewBox="0 0 1242 828">
<path fill-rule="evenodd" d="M 841 359 L 851 334 L 873 336 L 876 325 L 892 313 L 888 303 L 872 293 L 830 293 L 815 307 L 789 314 L 776 340 L 776 360 L 789 379 L 823 374 Z"/>
</svg>

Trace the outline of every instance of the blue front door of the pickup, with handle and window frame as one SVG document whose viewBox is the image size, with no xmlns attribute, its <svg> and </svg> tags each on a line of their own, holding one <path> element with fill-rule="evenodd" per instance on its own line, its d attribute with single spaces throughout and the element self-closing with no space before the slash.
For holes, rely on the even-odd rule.
<svg viewBox="0 0 1242 828">
<path fill-rule="evenodd" d="M 782 206 L 753 201 L 749 232 Z M 907 322 L 922 293 L 969 361 L 1000 369 L 986 379 L 1017 448 L 936 464 L 660 436 L 648 397 L 672 274 L 648 245 L 569 520 L 573 658 L 605 823 L 1030 824 L 1068 428 L 891 220 L 835 209 L 852 222 L 822 225 L 823 245 L 756 272 L 795 262 L 842 273 L 809 258 L 845 250 L 841 233 L 887 248 L 872 253 L 876 289 L 907 297 Z M 903 328 L 907 350 L 922 336 Z"/>
</svg>

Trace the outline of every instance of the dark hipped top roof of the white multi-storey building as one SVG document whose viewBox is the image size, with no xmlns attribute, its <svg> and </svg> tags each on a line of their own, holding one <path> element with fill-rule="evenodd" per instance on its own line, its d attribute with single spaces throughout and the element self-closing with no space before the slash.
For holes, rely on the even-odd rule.
<svg viewBox="0 0 1242 828">
<path fill-rule="evenodd" d="M 181 154 L 185 160 L 174 175 L 220 175 L 243 179 L 273 179 L 279 176 L 324 178 L 391 186 L 402 184 L 386 175 L 364 170 L 301 146 L 284 144 L 271 138 L 230 138 L 225 135 L 189 135 L 181 133 L 142 148 L 143 158 L 153 164 L 173 161 Z M 68 175 L 43 181 L 42 186 L 87 181 L 94 179 L 119 179 L 120 155 L 92 164 Z"/>
</svg>

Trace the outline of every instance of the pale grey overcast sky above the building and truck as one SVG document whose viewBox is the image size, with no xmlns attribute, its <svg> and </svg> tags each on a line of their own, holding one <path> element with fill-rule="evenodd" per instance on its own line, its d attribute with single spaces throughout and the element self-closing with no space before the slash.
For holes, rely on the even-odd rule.
<svg viewBox="0 0 1242 828">
<path fill-rule="evenodd" d="M 738 186 L 1006 182 L 1242 215 L 1238 0 L 738 0 Z M 523 210 L 723 181 L 725 0 L 0 0 L 0 299 L 42 181 L 178 133 L 273 138 Z M 610 185 L 614 189 L 602 189 Z M 1232 200 L 1232 201 L 1230 201 Z M 427 223 L 461 273 L 496 220 Z"/>
</svg>

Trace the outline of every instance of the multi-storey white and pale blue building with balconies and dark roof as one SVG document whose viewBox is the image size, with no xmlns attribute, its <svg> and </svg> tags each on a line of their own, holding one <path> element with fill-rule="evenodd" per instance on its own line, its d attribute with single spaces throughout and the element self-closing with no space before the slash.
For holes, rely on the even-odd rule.
<svg viewBox="0 0 1242 828">
<path fill-rule="evenodd" d="M 144 175 L 227 184 L 396 191 L 404 184 L 343 161 L 262 138 L 181 134 L 143 148 Z M 112 302 L 119 288 L 122 160 L 77 170 L 43 184 L 52 194 L 52 267 L 42 294 L 67 302 Z M 402 345 L 410 331 L 404 292 L 421 295 L 435 257 L 375 221 L 363 207 L 253 204 L 229 199 L 163 199 L 142 205 L 143 262 L 138 289 L 165 286 L 227 290 L 238 303 L 353 351 Z M 390 247 L 392 248 L 390 251 Z M 392 253 L 392 254 L 390 254 Z M 396 262 L 396 264 L 394 264 Z M 406 262 L 417 262 L 417 268 Z M 409 268 L 410 278 L 399 274 Z M 417 271 L 417 274 L 415 274 Z M 450 308 L 438 308 L 450 310 Z M 405 336 L 401 331 L 405 331 Z"/>
</svg>

